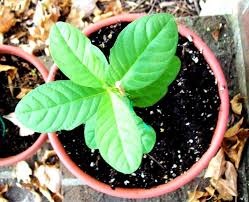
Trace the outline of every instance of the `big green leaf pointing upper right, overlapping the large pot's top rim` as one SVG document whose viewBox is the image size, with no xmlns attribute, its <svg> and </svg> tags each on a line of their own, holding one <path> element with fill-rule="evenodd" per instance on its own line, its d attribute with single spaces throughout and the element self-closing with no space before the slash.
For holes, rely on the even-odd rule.
<svg viewBox="0 0 249 202">
<path fill-rule="evenodd" d="M 178 30 L 174 17 L 154 14 L 130 23 L 110 51 L 106 81 L 120 81 L 126 92 L 156 81 L 176 52 Z"/>
</svg>

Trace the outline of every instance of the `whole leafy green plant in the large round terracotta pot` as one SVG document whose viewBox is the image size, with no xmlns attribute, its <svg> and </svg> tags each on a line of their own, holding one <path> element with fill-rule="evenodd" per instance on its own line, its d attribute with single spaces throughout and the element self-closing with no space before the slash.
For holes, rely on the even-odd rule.
<svg viewBox="0 0 249 202">
<path fill-rule="evenodd" d="M 81 156 L 82 162 L 89 164 L 89 168 L 86 168 L 88 170 L 82 171 L 77 166 L 77 164 L 80 164 L 79 161 L 77 164 L 73 162 L 69 152 L 62 145 L 61 141 L 63 140 L 59 139 L 61 134 L 57 136 L 55 133 L 50 133 L 51 144 L 58 156 L 75 176 L 89 186 L 98 191 L 125 198 L 146 198 L 165 194 L 176 190 L 196 177 L 208 165 L 221 144 L 229 109 L 228 90 L 224 75 L 218 61 L 207 45 L 183 25 L 178 25 L 177 29 L 171 15 L 141 16 L 139 14 L 116 16 L 85 30 L 85 34 L 91 38 L 91 42 L 99 43 L 98 46 L 105 55 L 78 30 L 68 24 L 57 23 L 50 34 L 50 51 L 56 65 L 71 81 L 55 81 L 42 85 L 29 93 L 16 108 L 16 115 L 20 121 L 27 127 L 39 132 L 72 130 L 78 126 L 77 131 L 82 133 L 81 139 L 85 139 L 85 144 L 91 148 L 91 150 L 89 149 L 89 156 L 95 156 L 96 161 L 89 162 L 86 156 Z M 132 22 L 133 20 L 135 21 Z M 117 31 L 117 29 L 119 30 Z M 112 47 L 110 44 L 115 41 L 113 36 L 117 33 L 116 31 L 121 31 L 121 33 Z M 179 42 L 178 31 L 180 33 Z M 106 47 L 102 39 L 110 41 L 110 44 L 107 42 Z M 189 49 L 190 47 L 193 50 Z M 183 60 L 180 61 L 176 56 L 176 51 L 177 56 L 181 55 L 188 60 L 187 62 L 191 60 L 190 64 L 186 64 Z M 189 54 L 192 54 L 192 57 Z M 109 61 L 106 60 L 108 55 L 110 55 Z M 205 68 L 199 68 L 196 64 L 205 66 Z M 194 67 L 190 68 L 191 65 Z M 188 71 L 193 73 L 192 76 L 199 76 L 200 73 L 203 77 L 201 82 L 196 83 L 195 79 L 189 77 Z M 54 66 L 49 79 L 53 79 L 55 74 L 56 67 Z M 179 75 L 185 75 L 188 79 L 179 77 Z M 206 77 L 211 79 L 211 82 L 207 81 L 206 83 Z M 186 80 L 191 80 L 192 83 L 190 82 L 188 87 L 194 86 L 193 91 L 196 94 L 191 92 L 192 88 L 191 90 L 181 89 L 182 84 L 186 84 Z M 217 80 L 217 85 L 215 80 Z M 194 85 L 192 85 L 193 83 Z M 199 84 L 201 86 L 212 84 L 210 86 L 212 90 L 208 89 L 209 86 L 206 86 L 205 89 L 199 89 Z M 175 86 L 173 90 L 172 86 Z M 169 90 L 170 102 L 167 101 L 168 94 L 165 95 L 167 90 Z M 211 91 L 213 94 L 209 95 L 210 100 L 220 109 L 218 118 L 213 114 L 206 114 L 210 112 L 209 110 L 212 110 L 208 101 L 209 98 L 199 100 L 202 102 L 200 104 L 189 104 L 188 101 L 185 102 L 181 99 L 181 96 L 184 95 L 188 95 L 187 98 L 190 100 L 199 97 L 199 94 L 205 97 Z M 218 95 L 219 99 L 217 98 Z M 173 107 L 175 104 L 178 104 L 177 107 Z M 169 106 L 167 110 L 171 111 L 172 114 L 165 114 L 165 106 Z M 200 106 L 207 111 L 200 113 L 198 111 Z M 178 107 L 182 111 L 179 111 Z M 193 114 L 189 114 L 189 109 L 192 110 L 191 113 Z M 185 111 L 188 114 L 184 114 Z M 154 115 L 155 112 L 157 116 Z M 187 116 L 186 120 L 183 114 Z M 144 115 L 146 116 L 142 118 L 146 121 L 139 117 Z M 197 118 L 193 115 L 196 115 Z M 181 119 L 182 116 L 183 119 Z M 170 119 L 167 117 L 170 117 Z M 183 170 L 179 176 L 176 176 L 173 170 L 178 165 L 170 162 L 170 159 L 172 159 L 170 150 L 167 154 L 162 154 L 162 156 L 169 156 L 168 160 L 165 161 L 155 159 L 153 155 L 156 155 L 159 150 L 168 149 L 168 146 L 173 150 L 174 147 L 179 148 L 181 146 L 182 143 L 180 142 L 174 141 L 172 144 L 170 139 L 166 142 L 164 139 L 167 136 L 167 131 L 174 132 L 174 130 L 178 130 L 178 126 L 183 133 L 185 129 L 189 128 L 190 132 L 196 136 L 202 134 L 203 131 L 201 132 L 200 127 L 189 121 L 191 117 L 199 122 L 204 119 L 211 121 L 213 124 L 211 124 L 211 127 L 210 123 L 205 121 L 202 124 L 203 127 L 207 125 L 208 128 L 205 128 L 205 130 L 211 131 L 211 134 L 214 132 L 214 135 L 212 141 L 210 139 L 209 148 L 206 152 L 203 152 L 201 158 L 199 160 L 194 159 L 194 162 L 192 162 L 194 165 L 191 165 L 191 168 L 187 171 Z M 216 118 L 218 121 L 214 129 L 215 123 L 213 121 L 216 121 Z M 170 124 L 165 127 L 164 119 L 173 124 L 174 127 L 171 127 Z M 27 120 L 32 121 L 27 122 Z M 153 127 L 148 124 L 149 122 Z M 86 124 L 84 129 L 79 128 L 82 123 Z M 194 131 L 192 131 L 193 128 Z M 74 133 L 76 133 L 75 130 L 70 133 L 72 136 L 69 139 L 73 137 Z M 210 132 L 206 131 L 206 133 Z M 177 134 L 174 134 L 174 137 L 170 136 L 172 140 L 175 137 L 179 139 L 180 135 L 179 137 L 177 137 Z M 202 139 L 205 141 L 205 138 Z M 63 141 L 63 143 L 66 144 L 70 141 L 69 139 Z M 162 139 L 164 139 L 163 142 Z M 199 139 L 189 139 L 187 143 L 194 148 L 194 144 L 199 145 L 197 141 Z M 209 145 L 210 142 L 206 142 L 206 144 Z M 71 148 L 76 147 L 78 143 L 82 144 L 83 147 L 82 141 L 74 139 Z M 162 143 L 163 147 L 160 146 Z M 179 143 L 179 145 L 175 143 Z M 96 155 L 98 150 L 102 157 L 99 153 Z M 176 150 L 177 154 L 174 155 L 180 163 L 187 158 L 191 159 L 190 155 L 195 155 L 196 152 L 195 150 L 192 151 L 192 148 L 187 151 L 190 153 L 184 154 L 181 153 L 180 149 Z M 151 155 L 152 153 L 153 155 Z M 182 158 L 184 155 L 185 158 Z M 149 161 L 144 159 L 149 159 Z M 105 165 L 104 170 L 99 171 L 102 176 L 113 176 L 113 173 L 115 173 L 116 178 L 108 178 L 107 183 L 109 185 L 87 174 L 91 174 L 93 170 L 98 171 L 103 164 L 106 164 L 105 161 L 117 170 L 115 171 L 110 166 Z M 141 164 L 141 161 L 146 161 L 146 163 Z M 195 161 L 197 162 L 195 163 Z M 154 166 L 155 164 L 156 166 Z M 150 168 L 156 170 L 160 167 L 165 170 L 167 165 L 172 165 L 171 170 L 169 170 L 171 176 L 168 177 L 164 174 L 163 179 L 161 179 L 164 180 L 163 183 L 160 181 L 160 184 L 158 184 L 158 179 L 152 178 L 155 185 L 148 186 L 149 189 L 134 188 L 138 178 L 142 179 L 142 186 L 147 183 L 143 181 L 146 176 L 141 166 L 145 166 L 145 170 L 150 170 Z M 136 171 L 137 169 L 139 171 Z M 137 172 L 140 172 L 139 176 L 137 176 Z M 160 175 L 160 173 L 157 174 Z M 98 176 L 98 179 L 101 179 L 102 176 Z M 114 184 L 115 187 L 110 186 L 118 178 L 126 177 L 129 180 L 124 179 L 122 186 L 119 186 L 120 184 Z M 132 184 L 131 180 L 133 178 L 135 180 Z M 125 188 L 127 185 L 129 187 L 130 184 L 132 184 L 132 188 Z"/>
</svg>

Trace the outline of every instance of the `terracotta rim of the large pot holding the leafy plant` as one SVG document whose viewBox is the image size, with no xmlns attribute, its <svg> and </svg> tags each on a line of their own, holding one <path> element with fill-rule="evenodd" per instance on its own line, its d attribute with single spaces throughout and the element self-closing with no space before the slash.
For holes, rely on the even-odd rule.
<svg viewBox="0 0 249 202">
<path fill-rule="evenodd" d="M 131 22 L 134 19 L 141 17 L 142 15 L 143 14 L 125 14 L 125 15 L 112 17 L 89 26 L 84 30 L 84 33 L 86 35 L 90 35 L 91 33 L 101 29 L 102 27 L 115 24 L 117 22 Z M 207 167 L 211 158 L 216 154 L 216 152 L 220 148 L 226 130 L 228 114 L 229 114 L 228 89 L 224 74 L 213 52 L 194 32 L 192 32 L 191 30 L 189 30 L 188 28 L 184 27 L 181 24 L 179 24 L 178 29 L 179 33 L 182 36 L 187 38 L 191 37 L 197 49 L 199 49 L 203 53 L 206 61 L 210 65 L 218 81 L 219 97 L 221 100 L 221 105 L 218 115 L 218 122 L 209 149 L 201 157 L 201 159 L 197 163 L 195 163 L 187 172 L 183 173 L 181 176 L 178 176 L 177 178 L 168 182 L 167 184 L 162 184 L 150 189 L 116 188 L 115 190 L 113 190 L 110 188 L 109 185 L 99 182 L 93 177 L 84 173 L 67 155 L 57 135 L 55 133 L 48 134 L 51 144 L 55 149 L 57 155 L 63 162 L 63 164 L 69 169 L 69 171 L 71 171 L 73 175 L 84 181 L 87 185 L 94 188 L 95 190 L 112 196 L 123 197 L 123 198 L 149 198 L 175 191 L 176 189 L 180 188 L 181 186 L 187 184 L 195 177 L 197 177 L 200 174 L 200 172 Z M 57 69 L 56 66 L 54 66 L 51 69 L 49 75 L 50 80 L 53 80 L 54 75 L 56 73 L 56 69 Z"/>
</svg>

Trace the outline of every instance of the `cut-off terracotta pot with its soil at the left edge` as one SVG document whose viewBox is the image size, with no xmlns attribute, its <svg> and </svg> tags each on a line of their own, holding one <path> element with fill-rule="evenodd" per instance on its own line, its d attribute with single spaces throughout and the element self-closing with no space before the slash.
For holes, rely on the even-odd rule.
<svg viewBox="0 0 249 202">
<path fill-rule="evenodd" d="M 47 140 L 46 135 L 38 134 L 19 137 L 19 127 L 8 119 L 14 118 L 9 114 L 14 112 L 27 87 L 38 85 L 32 78 L 41 74 L 39 80 L 42 82 L 42 78 L 47 78 L 48 70 L 35 56 L 9 45 L 0 45 L 0 66 L 0 166 L 7 166 L 31 157 Z"/>
</svg>

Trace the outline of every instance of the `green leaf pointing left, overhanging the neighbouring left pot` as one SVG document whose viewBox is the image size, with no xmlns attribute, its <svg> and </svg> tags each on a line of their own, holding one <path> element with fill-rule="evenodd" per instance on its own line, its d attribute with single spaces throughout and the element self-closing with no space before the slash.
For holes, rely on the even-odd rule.
<svg viewBox="0 0 249 202">
<path fill-rule="evenodd" d="M 43 84 L 17 105 L 17 119 L 36 132 L 70 130 L 96 113 L 103 89 L 83 87 L 70 80 Z"/>
</svg>

